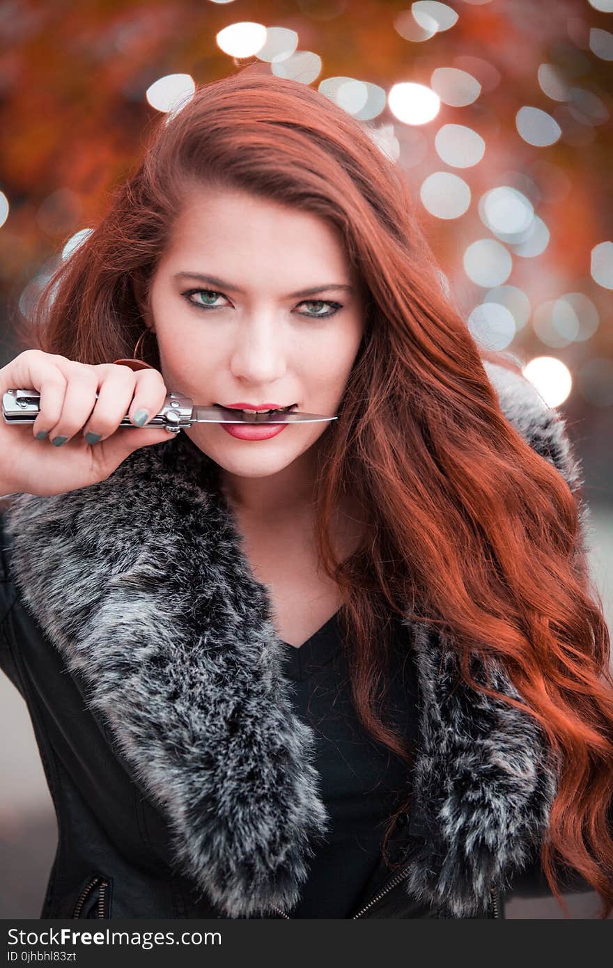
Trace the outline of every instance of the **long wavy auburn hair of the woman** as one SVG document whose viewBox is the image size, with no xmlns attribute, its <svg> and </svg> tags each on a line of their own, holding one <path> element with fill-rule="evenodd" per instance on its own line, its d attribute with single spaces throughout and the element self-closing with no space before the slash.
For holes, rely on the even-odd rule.
<svg viewBox="0 0 613 968">
<path fill-rule="evenodd" d="M 344 595 L 363 727 L 409 771 L 414 750 L 385 722 L 390 610 L 450 632 L 462 678 L 534 716 L 558 754 L 543 869 L 565 912 L 559 862 L 598 892 L 606 918 L 613 680 L 580 486 L 571 491 L 506 419 L 483 360 L 521 368 L 475 344 L 402 174 L 368 125 L 260 65 L 199 87 L 160 119 L 136 173 L 51 275 L 19 342 L 89 364 L 131 356 L 174 221 L 190 192 L 211 186 L 327 220 L 364 287 L 364 337 L 340 418 L 322 438 L 316 525 L 322 565 Z M 156 347 L 145 359 L 160 369 Z M 337 560 L 330 521 L 348 491 L 368 533 Z M 525 705 L 472 679 L 475 651 L 504 663 Z M 403 794 L 385 830 L 386 860 L 395 817 L 410 808 Z"/>
</svg>

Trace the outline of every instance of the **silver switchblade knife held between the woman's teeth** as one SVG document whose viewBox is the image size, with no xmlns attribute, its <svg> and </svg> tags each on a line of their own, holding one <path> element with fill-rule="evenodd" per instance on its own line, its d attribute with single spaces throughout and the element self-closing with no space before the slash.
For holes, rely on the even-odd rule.
<svg viewBox="0 0 613 968">
<path fill-rule="evenodd" d="M 98 394 L 96 394 L 98 399 Z M 41 395 L 38 390 L 7 390 L 2 395 L 2 416 L 8 424 L 32 424 L 40 409 Z M 337 420 L 321 413 L 304 413 L 301 410 L 264 410 L 261 413 L 243 413 L 227 407 L 202 407 L 190 397 L 180 393 L 169 393 L 164 407 L 149 420 L 146 427 L 166 427 L 171 434 L 178 434 L 185 427 L 195 423 L 313 423 L 317 420 Z M 132 427 L 139 430 L 126 414 L 119 427 Z"/>
</svg>

